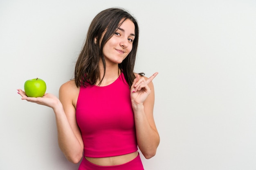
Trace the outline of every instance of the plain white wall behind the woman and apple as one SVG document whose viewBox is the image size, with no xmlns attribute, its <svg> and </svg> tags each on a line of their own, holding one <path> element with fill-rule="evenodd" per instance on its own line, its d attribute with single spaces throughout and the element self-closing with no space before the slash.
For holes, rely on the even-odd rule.
<svg viewBox="0 0 256 170">
<path fill-rule="evenodd" d="M 161 137 L 146 170 L 256 170 L 255 0 L 1 0 L 0 169 L 76 170 L 58 148 L 52 109 L 16 89 L 47 92 L 73 78 L 93 17 L 123 7 L 140 26 L 136 72 L 155 85 Z"/>
</svg>

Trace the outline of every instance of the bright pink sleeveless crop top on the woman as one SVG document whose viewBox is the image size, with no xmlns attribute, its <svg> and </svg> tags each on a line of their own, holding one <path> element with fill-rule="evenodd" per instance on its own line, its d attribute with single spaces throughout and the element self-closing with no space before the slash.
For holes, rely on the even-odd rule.
<svg viewBox="0 0 256 170">
<path fill-rule="evenodd" d="M 123 73 L 107 86 L 80 87 L 76 121 L 86 157 L 111 157 L 138 150 L 130 89 Z"/>
</svg>

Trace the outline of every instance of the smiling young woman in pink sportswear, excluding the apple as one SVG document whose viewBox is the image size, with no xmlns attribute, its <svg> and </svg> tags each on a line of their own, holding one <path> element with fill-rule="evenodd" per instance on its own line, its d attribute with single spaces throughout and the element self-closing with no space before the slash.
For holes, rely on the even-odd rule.
<svg viewBox="0 0 256 170">
<path fill-rule="evenodd" d="M 74 79 L 52 94 L 22 100 L 54 110 L 58 143 L 79 170 L 143 170 L 138 147 L 153 157 L 159 135 L 153 118 L 154 87 L 134 73 L 139 28 L 127 11 L 110 8 L 92 20 Z"/>
</svg>

